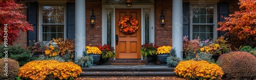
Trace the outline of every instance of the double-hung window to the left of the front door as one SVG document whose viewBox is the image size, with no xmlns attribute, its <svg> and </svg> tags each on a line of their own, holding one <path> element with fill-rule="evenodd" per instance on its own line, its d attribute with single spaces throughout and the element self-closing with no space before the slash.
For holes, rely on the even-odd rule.
<svg viewBox="0 0 256 80">
<path fill-rule="evenodd" d="M 65 5 L 41 6 L 41 40 L 65 38 Z"/>
</svg>

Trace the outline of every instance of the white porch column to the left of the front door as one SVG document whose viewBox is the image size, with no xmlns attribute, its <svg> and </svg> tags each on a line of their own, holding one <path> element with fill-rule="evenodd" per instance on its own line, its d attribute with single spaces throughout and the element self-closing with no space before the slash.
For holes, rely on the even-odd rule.
<svg viewBox="0 0 256 80">
<path fill-rule="evenodd" d="M 82 56 L 86 48 L 86 1 L 75 2 L 75 52 L 77 57 Z"/>
</svg>

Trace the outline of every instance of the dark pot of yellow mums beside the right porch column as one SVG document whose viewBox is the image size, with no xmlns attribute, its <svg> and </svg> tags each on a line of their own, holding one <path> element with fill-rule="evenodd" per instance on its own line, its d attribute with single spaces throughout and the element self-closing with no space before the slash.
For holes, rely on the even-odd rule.
<svg viewBox="0 0 256 80">
<path fill-rule="evenodd" d="M 161 65 L 166 65 L 166 58 L 169 57 L 170 49 L 172 46 L 161 46 L 157 48 L 157 59 L 161 63 Z"/>
</svg>

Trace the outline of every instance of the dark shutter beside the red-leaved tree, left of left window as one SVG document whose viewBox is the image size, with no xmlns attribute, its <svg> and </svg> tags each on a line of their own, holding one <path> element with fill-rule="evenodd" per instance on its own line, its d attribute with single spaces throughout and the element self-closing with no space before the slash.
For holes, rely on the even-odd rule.
<svg viewBox="0 0 256 80">
<path fill-rule="evenodd" d="M 27 20 L 29 21 L 29 23 L 33 24 L 34 28 L 33 32 L 27 32 L 27 46 L 29 46 L 30 40 L 37 41 L 37 7 L 37 2 L 30 3 L 30 5 L 28 5 L 27 7 Z"/>
</svg>

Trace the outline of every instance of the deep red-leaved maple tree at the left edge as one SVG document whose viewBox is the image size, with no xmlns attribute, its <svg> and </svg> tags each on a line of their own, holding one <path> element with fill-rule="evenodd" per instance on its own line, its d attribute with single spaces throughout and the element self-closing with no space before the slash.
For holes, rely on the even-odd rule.
<svg viewBox="0 0 256 80">
<path fill-rule="evenodd" d="M 33 31 L 33 26 L 26 21 L 26 15 L 22 14 L 26 7 L 15 0 L 0 0 L 0 39 L 13 42 L 20 37 L 19 30 L 23 32 Z"/>
</svg>

